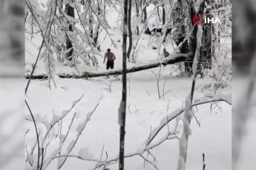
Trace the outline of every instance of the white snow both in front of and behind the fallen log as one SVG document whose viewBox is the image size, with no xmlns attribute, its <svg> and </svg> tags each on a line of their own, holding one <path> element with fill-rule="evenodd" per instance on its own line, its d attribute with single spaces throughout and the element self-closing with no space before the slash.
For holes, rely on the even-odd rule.
<svg viewBox="0 0 256 170">
<path fill-rule="evenodd" d="M 114 13 L 114 12 L 113 12 Z M 117 19 L 117 16 L 116 16 Z M 104 33 L 101 35 L 101 50 L 102 55 L 108 48 L 116 55 L 115 69 L 122 69 L 122 34 L 116 27 L 116 20 L 111 16 L 110 25 L 112 27 L 111 32 L 113 38 L 121 42 L 117 43 L 117 49 L 109 47 L 110 39 L 105 38 Z M 30 38 L 26 34 L 26 38 Z M 143 39 L 144 38 L 144 39 Z M 159 55 L 156 50 L 151 49 L 151 45 L 148 46 L 149 35 L 142 34 L 142 52 L 140 52 L 137 58 L 137 64 L 148 63 L 159 59 Z M 37 52 L 42 39 L 39 35 L 35 35 L 32 39 L 33 43 L 26 42 L 26 71 L 31 70 L 31 64 L 36 60 Z M 154 45 L 154 42 L 152 43 Z M 171 45 L 168 45 L 167 50 L 173 52 Z M 102 72 L 105 70 L 105 64 L 103 58 L 99 57 L 99 68 L 88 68 L 83 64 L 79 65 L 79 72 L 94 71 Z M 134 64 L 128 63 L 128 67 Z M 168 65 L 162 67 L 160 78 L 160 92 L 163 93 L 163 84 L 165 81 L 165 92 L 172 90 L 165 95 L 165 98 L 158 98 L 157 93 L 157 79 L 151 72 L 159 72 L 159 67 L 156 69 L 149 69 L 141 72 L 134 72 L 128 74 L 128 106 L 127 106 L 127 119 L 126 119 L 126 135 L 125 135 L 125 154 L 136 152 L 143 147 L 143 143 L 148 139 L 151 128 L 154 129 L 160 124 L 160 121 L 166 118 L 167 114 L 170 114 L 176 109 L 181 109 L 183 102 L 185 101 L 188 92 L 191 90 L 191 78 L 184 78 L 177 76 L 174 72 L 174 68 L 177 66 Z M 39 61 L 35 74 L 45 72 L 45 64 Z M 56 73 L 76 73 L 77 71 L 73 67 L 63 66 L 56 62 Z M 172 74 L 171 74 L 172 73 Z M 100 159 L 102 148 L 104 146 L 104 152 L 102 154 L 102 160 L 117 157 L 119 152 L 119 124 L 118 108 L 122 95 L 122 76 L 110 78 L 89 78 L 84 79 L 71 79 L 71 78 L 58 78 L 56 76 L 56 88 L 52 86 L 51 89 L 47 86 L 47 80 L 33 80 L 30 83 L 27 91 L 27 103 L 30 105 L 30 109 L 36 117 L 36 120 L 50 121 L 54 115 L 62 115 L 62 112 L 70 109 L 73 101 L 82 97 L 81 101 L 74 106 L 70 114 L 63 119 L 62 133 L 68 131 L 68 126 L 76 113 L 76 118 L 73 120 L 73 124 L 70 127 L 70 134 L 68 135 L 68 141 L 76 138 L 76 127 L 79 126 L 86 118 L 88 113 L 92 112 L 97 103 L 95 112 L 91 115 L 87 126 L 82 131 L 81 137 L 76 143 L 72 155 L 77 155 L 80 149 L 88 152 L 95 159 Z M 208 79 L 197 79 L 196 86 L 198 89 L 194 94 L 194 99 L 201 98 L 204 94 L 200 91 L 200 86 L 209 83 Z M 108 89 L 108 85 L 111 84 L 111 92 Z M 231 92 L 230 88 L 224 89 L 225 92 Z M 194 112 L 197 120 L 200 121 L 200 126 L 197 124 L 195 118 L 191 121 L 192 134 L 188 138 L 188 157 L 186 167 L 189 170 L 203 169 L 203 156 L 206 155 L 206 170 L 231 170 L 232 163 L 232 106 L 227 103 L 219 102 L 218 107 L 215 107 L 210 111 L 211 104 L 205 104 L 197 106 L 198 112 Z M 90 115 L 90 114 L 89 114 Z M 26 118 L 30 119 L 30 113 L 26 108 Z M 169 123 L 170 129 L 174 128 L 175 120 Z M 30 129 L 26 135 L 26 143 L 28 148 L 32 147 L 36 142 L 36 135 L 33 127 L 33 123 L 26 121 L 26 129 Z M 182 121 L 180 121 L 177 128 L 179 132 L 182 132 Z M 46 131 L 45 126 L 42 123 L 39 124 L 39 132 L 44 134 Z M 162 129 L 157 138 L 165 135 L 167 127 Z M 56 126 L 55 132 L 58 132 L 58 126 Z M 50 133 L 49 137 L 53 134 Z M 50 145 L 47 148 L 47 155 L 50 152 L 59 147 L 58 137 L 53 137 Z M 65 151 L 68 146 L 62 146 L 62 151 Z M 106 153 L 107 152 L 107 153 Z M 156 165 L 160 170 L 174 170 L 177 169 L 177 160 L 179 155 L 179 140 L 172 139 L 166 140 L 160 146 L 155 147 L 152 154 L 156 157 Z M 35 152 L 36 153 L 36 152 Z M 146 154 L 145 154 L 146 156 Z M 34 155 L 36 161 L 36 154 Z M 149 157 L 148 159 L 151 159 Z M 94 169 L 97 163 L 79 160 L 74 157 L 68 157 L 68 161 L 63 170 L 80 170 L 80 169 Z M 34 164 L 36 165 L 36 164 Z M 56 169 L 57 159 L 50 163 L 47 169 Z M 118 169 L 118 163 L 108 166 L 111 170 Z M 145 163 L 139 156 L 125 158 L 125 169 L 127 170 L 142 170 L 154 169 L 149 163 Z"/>
</svg>

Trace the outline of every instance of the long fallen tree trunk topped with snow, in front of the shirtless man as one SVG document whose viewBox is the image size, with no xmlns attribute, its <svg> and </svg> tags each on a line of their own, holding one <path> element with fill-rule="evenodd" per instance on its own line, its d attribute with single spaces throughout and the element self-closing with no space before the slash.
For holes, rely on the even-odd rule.
<svg viewBox="0 0 256 170">
<path fill-rule="evenodd" d="M 156 67 L 160 67 L 161 64 L 164 66 L 167 64 L 176 64 L 179 62 L 186 61 L 188 58 L 188 54 L 174 54 L 171 55 L 168 58 L 164 58 L 163 61 L 152 61 L 148 64 L 140 64 L 131 68 L 127 69 L 127 73 L 129 72 L 139 72 L 145 69 L 153 69 Z M 57 74 L 59 78 L 96 78 L 96 77 L 102 77 L 107 75 L 122 75 L 122 69 L 116 69 L 116 70 L 110 70 L 106 72 L 84 72 L 83 75 L 69 75 L 60 73 Z M 33 75 L 31 79 L 45 79 L 47 78 L 47 75 Z M 25 75 L 25 78 L 30 78 L 29 74 Z"/>
</svg>

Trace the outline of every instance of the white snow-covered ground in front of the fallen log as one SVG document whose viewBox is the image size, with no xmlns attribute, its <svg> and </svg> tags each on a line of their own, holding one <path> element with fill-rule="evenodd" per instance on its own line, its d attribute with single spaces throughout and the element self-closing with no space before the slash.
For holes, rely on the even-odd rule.
<svg viewBox="0 0 256 170">
<path fill-rule="evenodd" d="M 197 81 L 197 84 L 201 83 L 203 83 L 203 80 Z M 74 100 L 84 95 L 82 101 L 62 123 L 62 132 L 66 132 L 73 113 L 77 113 L 77 118 L 71 128 L 70 138 L 75 137 L 76 126 L 85 120 L 88 112 L 91 112 L 97 103 L 99 103 L 99 106 L 71 153 L 77 154 L 79 149 L 88 148 L 93 157 L 99 158 L 102 146 L 104 146 L 104 151 L 108 152 L 108 158 L 116 157 L 119 152 L 117 112 L 121 99 L 121 82 L 113 81 L 111 92 L 105 89 L 108 86 L 105 85 L 104 80 L 59 79 L 56 80 L 56 84 L 57 88 L 50 91 L 47 87 L 47 81 L 32 81 L 27 93 L 27 102 L 30 103 L 30 109 L 33 113 L 41 117 L 47 116 L 47 120 L 51 120 L 53 112 L 56 115 L 61 115 L 62 111 L 70 109 Z M 168 78 L 165 90 L 174 89 L 177 98 L 170 93 L 165 96 L 165 100 L 159 100 L 157 82 L 151 76 L 151 72 L 140 72 L 131 75 L 131 81 L 128 84 L 131 95 L 128 95 L 126 153 L 135 152 L 142 147 L 142 143 L 150 134 L 151 127 L 154 129 L 168 113 L 181 108 L 191 88 L 190 84 L 191 79 L 189 78 Z M 196 98 L 199 98 L 200 95 L 202 94 L 197 92 Z M 191 122 L 192 135 L 188 142 L 187 166 L 189 169 L 201 168 L 203 153 L 206 154 L 207 169 L 231 169 L 231 106 L 226 103 L 219 103 L 219 105 L 222 112 L 217 108 L 210 112 L 210 104 L 197 107 L 198 112 L 195 115 L 200 120 L 200 127 L 193 119 Z M 167 107 L 169 107 L 168 111 Z M 28 111 L 26 112 L 28 114 Z M 26 123 L 26 128 L 31 131 L 26 137 L 27 144 L 31 145 L 35 140 L 35 134 L 32 133 L 33 123 Z M 43 129 L 45 127 L 42 126 L 42 132 L 45 131 Z M 163 132 L 165 132 L 165 129 L 167 127 L 163 129 Z M 159 137 L 161 137 L 161 134 Z M 153 153 L 157 157 L 157 166 L 160 169 L 177 168 L 177 139 L 166 141 L 154 149 Z M 105 154 L 103 158 L 105 158 Z M 126 162 L 126 169 L 143 169 L 143 161 L 140 157 L 128 158 Z M 93 169 L 93 166 L 95 166 L 95 163 L 83 163 L 81 160 L 68 158 L 68 163 L 63 169 L 70 169 L 70 167 L 73 167 L 73 169 L 81 169 L 81 167 Z M 117 169 L 117 166 L 114 167 L 113 169 Z M 148 164 L 146 169 L 154 169 L 154 167 Z"/>
</svg>

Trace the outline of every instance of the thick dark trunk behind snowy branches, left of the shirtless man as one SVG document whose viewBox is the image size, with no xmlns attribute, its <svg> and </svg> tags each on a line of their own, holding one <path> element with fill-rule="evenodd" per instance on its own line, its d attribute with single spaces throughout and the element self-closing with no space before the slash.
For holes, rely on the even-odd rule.
<svg viewBox="0 0 256 170">
<path fill-rule="evenodd" d="M 67 13 L 68 16 L 75 18 L 75 10 L 69 4 L 66 4 L 66 13 Z M 73 27 L 69 23 L 68 23 L 68 31 L 73 31 Z M 68 50 L 70 48 L 71 48 L 71 50 L 66 53 L 66 58 L 68 58 L 69 61 L 72 60 L 73 46 L 72 46 L 72 42 L 70 41 L 70 39 L 68 38 L 68 35 L 67 35 L 67 38 L 66 38 L 66 50 Z"/>
</svg>

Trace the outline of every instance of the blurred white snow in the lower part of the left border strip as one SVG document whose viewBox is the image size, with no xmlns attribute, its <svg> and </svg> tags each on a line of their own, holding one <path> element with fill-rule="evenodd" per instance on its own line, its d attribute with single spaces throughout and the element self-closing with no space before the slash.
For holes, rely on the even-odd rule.
<svg viewBox="0 0 256 170">
<path fill-rule="evenodd" d="M 24 169 L 24 79 L 0 82 L 0 169 Z"/>
</svg>

